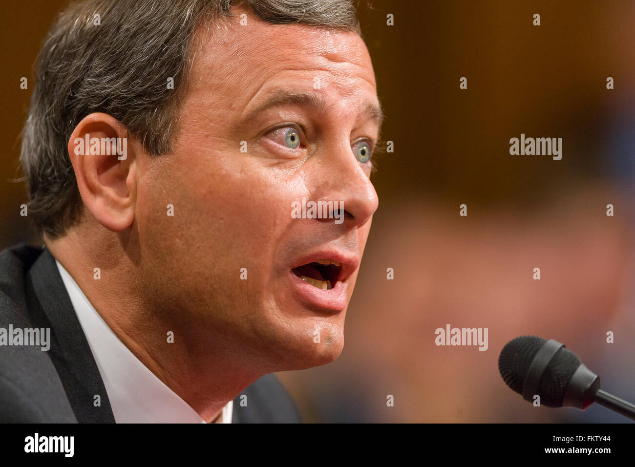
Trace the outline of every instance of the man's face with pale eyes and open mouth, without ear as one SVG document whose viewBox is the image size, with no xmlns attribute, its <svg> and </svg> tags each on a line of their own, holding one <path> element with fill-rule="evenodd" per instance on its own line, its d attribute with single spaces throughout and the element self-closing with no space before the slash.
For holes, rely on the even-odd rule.
<svg viewBox="0 0 635 467">
<path fill-rule="evenodd" d="M 342 351 L 377 209 L 375 78 L 356 34 L 243 12 L 197 36 L 174 154 L 140 158 L 142 267 L 189 339 L 231 339 L 267 372 L 308 368 Z M 303 198 L 343 210 L 298 219 Z"/>
</svg>

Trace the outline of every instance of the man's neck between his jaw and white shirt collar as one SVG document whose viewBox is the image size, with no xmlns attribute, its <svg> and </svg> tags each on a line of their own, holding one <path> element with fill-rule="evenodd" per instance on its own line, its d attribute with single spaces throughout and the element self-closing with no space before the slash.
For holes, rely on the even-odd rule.
<svg viewBox="0 0 635 467">
<path fill-rule="evenodd" d="M 231 351 L 240 347 L 197 322 L 200 313 L 161 306 L 170 301 L 144 282 L 135 242 L 109 235 L 114 234 L 71 229 L 62 238 L 46 239 L 46 246 L 140 362 L 204 421 L 217 420 L 222 408 L 262 375 L 245 371 L 248 366 Z"/>
</svg>

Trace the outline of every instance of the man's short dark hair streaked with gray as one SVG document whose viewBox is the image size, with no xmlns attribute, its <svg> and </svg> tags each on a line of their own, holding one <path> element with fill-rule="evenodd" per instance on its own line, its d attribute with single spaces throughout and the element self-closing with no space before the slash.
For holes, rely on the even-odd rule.
<svg viewBox="0 0 635 467">
<path fill-rule="evenodd" d="M 29 217 L 50 238 L 79 221 L 83 203 L 68 156 L 70 135 L 93 112 L 121 121 L 153 156 L 171 152 L 197 27 L 230 19 L 236 0 L 87 0 L 53 24 L 37 59 L 20 162 Z M 272 24 L 356 32 L 350 0 L 244 0 Z M 96 15 L 100 25 L 94 24 Z M 174 79 L 174 89 L 166 80 Z"/>
</svg>

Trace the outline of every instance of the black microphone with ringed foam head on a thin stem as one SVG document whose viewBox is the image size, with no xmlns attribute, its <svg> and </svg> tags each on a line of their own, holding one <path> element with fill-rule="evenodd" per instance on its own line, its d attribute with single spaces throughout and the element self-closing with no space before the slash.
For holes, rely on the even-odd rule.
<svg viewBox="0 0 635 467">
<path fill-rule="evenodd" d="M 498 356 L 498 371 L 505 384 L 525 400 L 535 395 L 547 407 L 586 410 L 594 402 L 635 420 L 635 405 L 599 388 L 599 376 L 564 344 L 535 335 L 507 342 Z"/>
</svg>

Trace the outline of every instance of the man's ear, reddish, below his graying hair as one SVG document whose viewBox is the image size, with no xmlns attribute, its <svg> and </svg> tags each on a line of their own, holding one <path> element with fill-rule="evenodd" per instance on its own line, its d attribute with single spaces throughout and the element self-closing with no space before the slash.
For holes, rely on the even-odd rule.
<svg viewBox="0 0 635 467">
<path fill-rule="evenodd" d="M 126 127 L 102 113 L 86 116 L 69 139 L 70 162 L 84 205 L 113 232 L 128 229 L 135 218 L 137 166 L 132 146 Z"/>
</svg>

